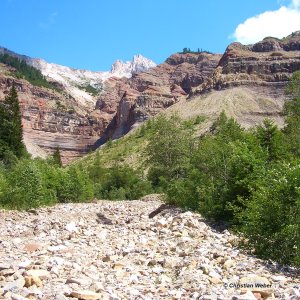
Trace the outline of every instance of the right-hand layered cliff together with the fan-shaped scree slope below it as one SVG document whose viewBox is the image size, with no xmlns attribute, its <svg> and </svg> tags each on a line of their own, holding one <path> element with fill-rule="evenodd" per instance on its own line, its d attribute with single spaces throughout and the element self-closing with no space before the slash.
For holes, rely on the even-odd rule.
<svg viewBox="0 0 300 300">
<path fill-rule="evenodd" d="M 266 117 L 283 126 L 284 87 L 292 73 L 300 70 L 299 45 L 300 32 L 282 40 L 229 45 L 211 76 L 192 90 L 177 111 L 197 112 L 212 121 L 225 110 L 244 127 Z"/>
</svg>

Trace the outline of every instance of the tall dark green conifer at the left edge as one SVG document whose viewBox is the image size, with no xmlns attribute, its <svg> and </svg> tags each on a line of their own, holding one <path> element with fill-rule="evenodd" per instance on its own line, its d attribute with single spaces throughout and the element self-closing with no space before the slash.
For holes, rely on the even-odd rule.
<svg viewBox="0 0 300 300">
<path fill-rule="evenodd" d="M 25 154 L 23 144 L 23 128 L 21 109 L 16 88 L 13 86 L 9 94 L 0 104 L 0 157 L 3 157 L 3 149 L 11 151 L 17 157 Z"/>
</svg>

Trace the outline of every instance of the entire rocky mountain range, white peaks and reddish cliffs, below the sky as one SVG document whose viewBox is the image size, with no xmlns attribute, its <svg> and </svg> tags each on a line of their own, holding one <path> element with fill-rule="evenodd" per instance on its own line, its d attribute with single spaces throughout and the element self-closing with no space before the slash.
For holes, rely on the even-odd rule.
<svg viewBox="0 0 300 300">
<path fill-rule="evenodd" d="M 3 48 L 1 53 L 17 55 Z M 184 117 L 203 114 L 209 120 L 224 109 L 246 127 L 265 117 L 282 125 L 284 86 L 300 70 L 300 32 L 255 45 L 233 43 L 223 56 L 177 53 L 158 66 L 136 56 L 129 63 L 116 62 L 105 76 L 43 60 L 31 65 L 63 92 L 34 87 L 0 64 L 0 100 L 15 84 L 27 148 L 43 156 L 59 147 L 67 163 L 166 109 L 177 109 Z M 125 73 L 130 78 L 120 78 Z M 98 94 L 82 89 L 86 84 Z"/>
</svg>

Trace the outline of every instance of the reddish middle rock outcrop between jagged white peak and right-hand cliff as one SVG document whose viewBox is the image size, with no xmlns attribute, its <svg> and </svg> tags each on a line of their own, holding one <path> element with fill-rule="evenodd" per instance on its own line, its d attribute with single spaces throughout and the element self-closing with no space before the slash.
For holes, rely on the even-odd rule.
<svg viewBox="0 0 300 300">
<path fill-rule="evenodd" d="M 206 52 L 177 53 L 165 63 L 146 72 L 133 74 L 130 79 L 105 82 L 98 107 L 101 105 L 105 108 L 109 106 L 108 103 L 117 103 L 116 97 L 120 97 L 120 105 L 101 141 L 118 138 L 134 124 L 185 99 L 193 87 L 211 75 L 220 58 L 221 55 Z"/>
</svg>

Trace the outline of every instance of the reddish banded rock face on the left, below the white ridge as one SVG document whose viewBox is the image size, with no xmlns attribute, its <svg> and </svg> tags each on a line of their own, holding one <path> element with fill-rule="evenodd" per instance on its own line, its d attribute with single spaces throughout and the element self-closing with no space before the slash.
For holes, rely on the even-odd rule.
<svg viewBox="0 0 300 300">
<path fill-rule="evenodd" d="M 71 97 L 1 72 L 0 99 L 12 85 L 21 105 L 24 142 L 33 156 L 45 157 L 59 147 L 63 163 L 68 163 L 86 154 L 110 121 Z"/>
</svg>

